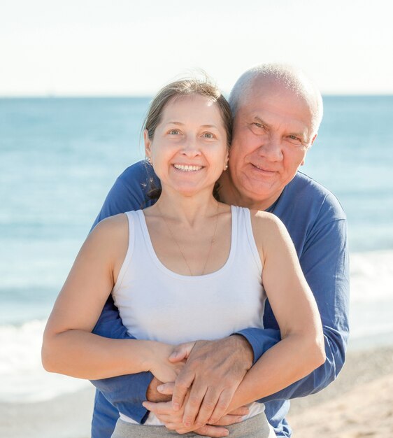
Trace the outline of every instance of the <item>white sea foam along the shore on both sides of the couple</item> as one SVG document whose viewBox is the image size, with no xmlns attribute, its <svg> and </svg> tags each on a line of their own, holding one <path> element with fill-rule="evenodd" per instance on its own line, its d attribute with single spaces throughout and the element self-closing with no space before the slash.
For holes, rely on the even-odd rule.
<svg viewBox="0 0 393 438">
<path fill-rule="evenodd" d="M 393 332 L 393 251 L 351 255 L 351 337 Z M 90 383 L 50 374 L 41 365 L 45 320 L 0 325 L 0 402 L 35 402 Z M 393 339 L 391 339 L 393 344 Z"/>
</svg>

